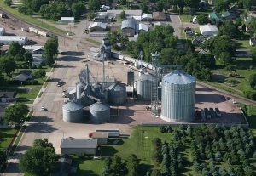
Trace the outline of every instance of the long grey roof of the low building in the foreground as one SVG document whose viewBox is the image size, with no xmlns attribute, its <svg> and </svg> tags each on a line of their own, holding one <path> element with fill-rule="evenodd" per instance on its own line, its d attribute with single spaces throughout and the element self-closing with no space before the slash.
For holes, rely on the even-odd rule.
<svg viewBox="0 0 256 176">
<path fill-rule="evenodd" d="M 61 148 L 93 148 L 97 147 L 97 139 L 61 139 Z"/>
</svg>

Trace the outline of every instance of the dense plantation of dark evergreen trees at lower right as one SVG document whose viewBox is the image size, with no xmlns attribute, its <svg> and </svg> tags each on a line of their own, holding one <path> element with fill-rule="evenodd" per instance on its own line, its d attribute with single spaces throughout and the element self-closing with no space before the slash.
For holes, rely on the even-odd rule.
<svg viewBox="0 0 256 176">
<path fill-rule="evenodd" d="M 256 157 L 255 139 L 248 129 L 213 125 L 191 128 L 181 125 L 174 130 L 171 126 L 161 126 L 160 132 L 172 133 L 170 144 L 180 146 L 180 151 L 185 146 L 189 147 L 195 173 L 216 176 L 254 174 L 250 160 Z M 217 165 L 219 162 L 222 163 L 220 166 Z M 224 164 L 229 166 L 228 169 L 222 167 Z"/>
</svg>

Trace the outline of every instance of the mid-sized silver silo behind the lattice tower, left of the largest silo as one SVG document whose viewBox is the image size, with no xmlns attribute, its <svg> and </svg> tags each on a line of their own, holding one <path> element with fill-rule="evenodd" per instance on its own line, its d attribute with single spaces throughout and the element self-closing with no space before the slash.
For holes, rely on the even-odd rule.
<svg viewBox="0 0 256 176">
<path fill-rule="evenodd" d="M 137 79 L 137 99 L 150 100 L 151 99 L 151 85 L 153 77 L 149 74 L 141 74 Z"/>
</svg>

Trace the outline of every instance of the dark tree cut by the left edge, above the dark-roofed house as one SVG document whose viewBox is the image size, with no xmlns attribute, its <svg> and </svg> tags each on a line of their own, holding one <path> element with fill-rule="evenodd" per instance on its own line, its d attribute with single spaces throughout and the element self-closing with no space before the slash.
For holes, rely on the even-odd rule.
<svg viewBox="0 0 256 176">
<path fill-rule="evenodd" d="M 15 60 L 12 60 L 12 58 L 9 55 L 5 55 L 2 58 L 0 58 L 0 71 L 5 72 L 9 77 L 13 71 L 16 69 L 16 63 Z"/>
</svg>

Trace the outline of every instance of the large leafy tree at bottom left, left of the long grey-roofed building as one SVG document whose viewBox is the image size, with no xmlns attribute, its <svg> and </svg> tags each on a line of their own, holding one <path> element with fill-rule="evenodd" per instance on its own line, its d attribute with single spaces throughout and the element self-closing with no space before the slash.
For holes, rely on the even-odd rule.
<svg viewBox="0 0 256 176">
<path fill-rule="evenodd" d="M 35 176 L 48 176 L 55 170 L 55 148 L 47 139 L 35 141 L 32 148 L 20 156 L 20 169 Z"/>
</svg>

